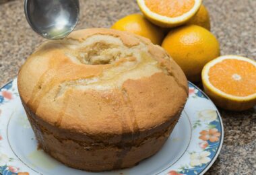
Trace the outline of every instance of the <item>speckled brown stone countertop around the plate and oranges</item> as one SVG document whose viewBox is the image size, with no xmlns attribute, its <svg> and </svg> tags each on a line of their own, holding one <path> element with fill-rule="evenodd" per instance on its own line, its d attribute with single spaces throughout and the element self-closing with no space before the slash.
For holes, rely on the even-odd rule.
<svg viewBox="0 0 256 175">
<path fill-rule="evenodd" d="M 119 18 L 137 13 L 135 0 L 80 1 L 81 28 L 108 28 Z M 256 1 L 205 0 L 212 32 L 220 41 L 222 55 L 256 59 Z M 23 1 L 0 5 L 0 85 L 18 73 L 26 57 L 44 39 L 28 26 Z M 206 174 L 255 174 L 256 108 L 245 112 L 220 110 L 224 122 L 224 144 L 218 159 Z"/>
</svg>

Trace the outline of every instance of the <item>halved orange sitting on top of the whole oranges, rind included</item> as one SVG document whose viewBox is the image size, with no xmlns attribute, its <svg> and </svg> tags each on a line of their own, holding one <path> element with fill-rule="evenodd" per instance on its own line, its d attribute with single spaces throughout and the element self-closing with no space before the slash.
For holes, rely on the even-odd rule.
<svg viewBox="0 0 256 175">
<path fill-rule="evenodd" d="M 137 0 L 137 3 L 152 23 L 171 28 L 189 21 L 199 10 L 202 0 Z"/>
</svg>

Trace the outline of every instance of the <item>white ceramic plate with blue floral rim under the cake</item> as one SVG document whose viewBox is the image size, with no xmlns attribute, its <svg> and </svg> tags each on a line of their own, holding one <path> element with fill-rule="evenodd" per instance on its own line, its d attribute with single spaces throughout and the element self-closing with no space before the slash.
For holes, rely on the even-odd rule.
<svg viewBox="0 0 256 175">
<path fill-rule="evenodd" d="M 133 168 L 100 174 L 203 174 L 216 160 L 223 125 L 212 101 L 189 83 L 189 99 L 168 141 Z M 37 150 L 20 102 L 16 79 L 0 89 L 0 174 L 98 174 L 69 168 Z"/>
</svg>

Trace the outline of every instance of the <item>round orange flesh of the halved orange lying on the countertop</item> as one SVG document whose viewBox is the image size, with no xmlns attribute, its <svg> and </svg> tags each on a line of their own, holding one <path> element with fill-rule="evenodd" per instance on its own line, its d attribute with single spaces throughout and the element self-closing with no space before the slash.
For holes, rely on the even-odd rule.
<svg viewBox="0 0 256 175">
<path fill-rule="evenodd" d="M 256 93 L 256 67 L 247 61 L 226 59 L 210 68 L 209 80 L 218 90 L 245 97 Z"/>
</svg>

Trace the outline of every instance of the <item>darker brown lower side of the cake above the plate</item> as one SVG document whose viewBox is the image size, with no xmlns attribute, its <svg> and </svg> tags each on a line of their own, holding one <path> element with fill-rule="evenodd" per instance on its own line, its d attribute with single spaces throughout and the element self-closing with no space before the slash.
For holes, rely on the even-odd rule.
<svg viewBox="0 0 256 175">
<path fill-rule="evenodd" d="M 67 166 L 92 172 L 129 168 L 154 155 L 168 139 L 180 115 L 173 116 L 172 120 L 160 125 L 161 129 L 154 130 L 156 132 L 148 137 L 129 137 L 131 142 L 128 144 L 120 141 L 109 145 L 57 137 L 36 122 L 37 116 L 26 105 L 24 107 L 40 148 Z"/>
</svg>

